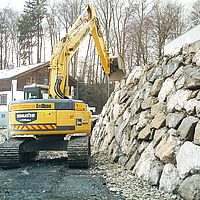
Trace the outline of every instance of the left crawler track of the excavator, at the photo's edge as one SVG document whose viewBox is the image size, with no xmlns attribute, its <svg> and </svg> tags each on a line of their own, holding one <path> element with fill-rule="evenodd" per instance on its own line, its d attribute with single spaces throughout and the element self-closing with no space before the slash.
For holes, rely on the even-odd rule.
<svg viewBox="0 0 200 200">
<path fill-rule="evenodd" d="M 0 145 L 0 167 L 4 169 L 18 168 L 21 163 L 20 145 L 23 140 L 9 139 Z"/>
</svg>

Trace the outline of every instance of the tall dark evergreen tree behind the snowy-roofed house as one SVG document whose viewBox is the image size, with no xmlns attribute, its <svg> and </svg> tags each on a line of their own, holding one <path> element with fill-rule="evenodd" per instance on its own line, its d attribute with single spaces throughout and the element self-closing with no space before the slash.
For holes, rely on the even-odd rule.
<svg viewBox="0 0 200 200">
<path fill-rule="evenodd" d="M 42 20 L 46 14 L 47 0 L 29 0 L 25 2 L 24 12 L 18 23 L 19 43 L 23 62 L 32 63 L 33 47 L 37 47 L 37 63 L 41 62 Z"/>
</svg>

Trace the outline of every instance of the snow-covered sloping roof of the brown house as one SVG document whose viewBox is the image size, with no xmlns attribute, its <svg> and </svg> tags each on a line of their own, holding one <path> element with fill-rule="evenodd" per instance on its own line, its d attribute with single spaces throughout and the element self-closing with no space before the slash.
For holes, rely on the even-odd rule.
<svg viewBox="0 0 200 200">
<path fill-rule="evenodd" d="M 16 67 L 16 68 L 13 68 L 13 69 L 3 69 L 3 70 L 0 70 L 0 80 L 17 78 L 20 75 L 30 73 L 31 71 L 35 71 L 37 69 L 40 69 L 42 67 L 49 66 L 49 65 L 50 65 L 50 62 L 47 61 L 47 62 L 44 62 L 44 63 L 37 63 L 37 64 L 34 64 L 34 65 Z"/>
</svg>

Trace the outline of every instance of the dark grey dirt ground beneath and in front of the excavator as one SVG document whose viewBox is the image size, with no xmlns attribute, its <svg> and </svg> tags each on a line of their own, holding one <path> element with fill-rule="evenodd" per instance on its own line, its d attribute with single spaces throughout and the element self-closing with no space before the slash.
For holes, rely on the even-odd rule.
<svg viewBox="0 0 200 200">
<path fill-rule="evenodd" d="M 121 200 L 106 187 L 102 172 L 69 169 L 65 156 L 40 155 L 19 169 L 0 169 L 0 199 L 8 200 Z"/>
</svg>

